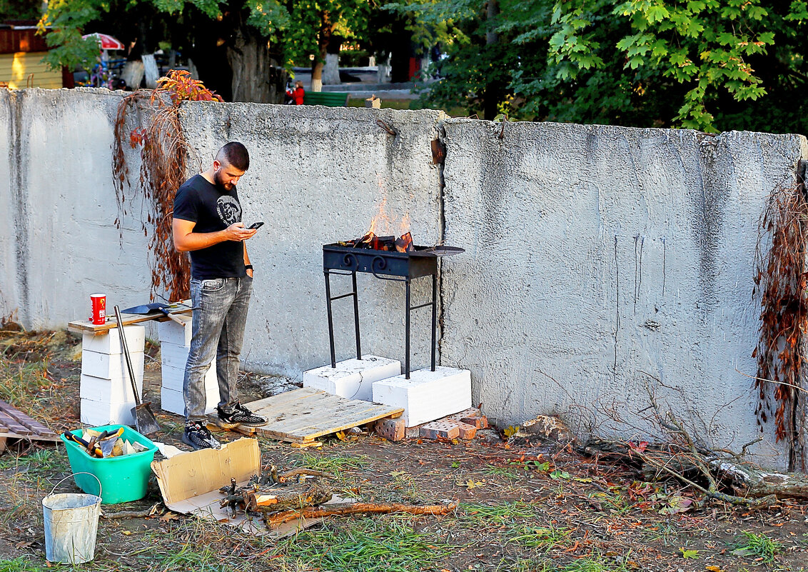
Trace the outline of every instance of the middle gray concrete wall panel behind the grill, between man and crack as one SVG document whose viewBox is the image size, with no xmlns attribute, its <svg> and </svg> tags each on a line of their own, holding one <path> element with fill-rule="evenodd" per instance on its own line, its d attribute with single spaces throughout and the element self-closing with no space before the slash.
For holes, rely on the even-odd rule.
<svg viewBox="0 0 808 572">
<path fill-rule="evenodd" d="M 430 141 L 442 117 L 437 111 L 183 105 L 183 128 L 200 165 L 227 141 L 250 149 L 250 170 L 238 184 L 242 217 L 265 225 L 247 242 L 255 266 L 248 366 L 300 378 L 329 361 L 322 245 L 361 236 L 383 200 L 391 218 L 409 214 L 419 244 L 440 239 L 440 170 L 431 164 Z M 379 118 L 398 135 L 382 130 Z M 332 296 L 351 288 L 347 277 L 331 282 Z M 403 285 L 360 275 L 359 289 L 363 351 L 403 362 Z M 415 288 L 417 299 L 428 295 L 424 284 Z M 351 299 L 335 301 L 334 309 L 337 359 L 356 356 Z M 423 367 L 431 322 L 426 310 L 419 312 L 412 360 Z"/>
</svg>

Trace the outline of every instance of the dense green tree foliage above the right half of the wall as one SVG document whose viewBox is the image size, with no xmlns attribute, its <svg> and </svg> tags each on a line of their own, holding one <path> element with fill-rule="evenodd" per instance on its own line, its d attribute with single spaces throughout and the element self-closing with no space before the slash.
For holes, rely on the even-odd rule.
<svg viewBox="0 0 808 572">
<path fill-rule="evenodd" d="M 392 6 L 444 49 L 431 102 L 475 112 L 495 95 L 511 118 L 806 131 L 802 0 L 499 2 L 494 18 L 483 0 Z"/>
</svg>

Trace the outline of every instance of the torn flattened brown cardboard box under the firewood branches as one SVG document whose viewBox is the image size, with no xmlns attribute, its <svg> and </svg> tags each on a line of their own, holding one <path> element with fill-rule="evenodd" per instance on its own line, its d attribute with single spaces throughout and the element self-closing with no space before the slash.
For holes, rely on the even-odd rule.
<svg viewBox="0 0 808 572">
<path fill-rule="evenodd" d="M 260 473 L 261 450 L 255 439 L 245 437 L 223 445 L 218 451 L 200 449 L 183 452 L 164 461 L 153 461 L 151 468 L 157 475 L 163 503 L 175 512 L 216 520 L 255 536 L 271 535 L 278 538 L 322 520 L 297 519 L 269 529 L 263 519 L 243 512 L 234 516 L 228 507 L 219 506 L 223 498 L 219 489 L 229 486 L 231 477 L 236 479 L 238 486 L 245 486 L 250 477 Z M 344 502 L 344 499 L 338 499 L 335 495 L 330 502 Z"/>
</svg>

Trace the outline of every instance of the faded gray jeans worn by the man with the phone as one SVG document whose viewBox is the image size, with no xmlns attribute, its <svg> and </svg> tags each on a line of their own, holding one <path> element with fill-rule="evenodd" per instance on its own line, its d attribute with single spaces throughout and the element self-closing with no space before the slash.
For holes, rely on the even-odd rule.
<svg viewBox="0 0 808 572">
<path fill-rule="evenodd" d="M 238 356 L 242 352 L 244 324 L 250 305 L 252 278 L 191 279 L 191 302 L 194 310 L 191 351 L 185 365 L 183 396 L 185 418 L 204 421 L 204 376 L 216 357 L 219 379 L 219 405 L 238 401 Z"/>
</svg>

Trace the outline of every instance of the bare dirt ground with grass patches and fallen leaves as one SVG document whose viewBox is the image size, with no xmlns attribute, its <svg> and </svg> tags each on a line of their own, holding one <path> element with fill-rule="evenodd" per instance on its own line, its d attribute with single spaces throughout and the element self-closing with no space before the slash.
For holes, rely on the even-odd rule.
<svg viewBox="0 0 808 572">
<path fill-rule="evenodd" d="M 65 332 L 0 328 L 0 398 L 54 431 L 79 423 L 80 340 Z M 147 347 L 146 397 L 159 403 L 156 347 Z M 242 401 L 288 389 L 282 378 L 245 374 Z M 158 411 L 158 440 L 179 443 L 182 418 Z M 239 437 L 218 434 L 222 440 Z M 308 467 L 367 502 L 436 504 L 451 515 L 340 517 L 282 540 L 175 515 L 154 482 L 136 503 L 151 518 L 99 522 L 95 561 L 82 570 L 806 570 L 806 503 L 750 511 L 712 503 L 675 482 L 641 482 L 621 465 L 513 447 L 496 431 L 478 438 L 390 443 L 375 435 L 327 439 L 321 449 L 259 440 L 263 465 Z M 70 474 L 61 445 L 20 446 L 0 456 L 0 572 L 44 570 L 41 499 Z M 60 490 L 78 492 L 72 482 Z M 65 566 L 66 567 L 66 566 Z"/>
</svg>

